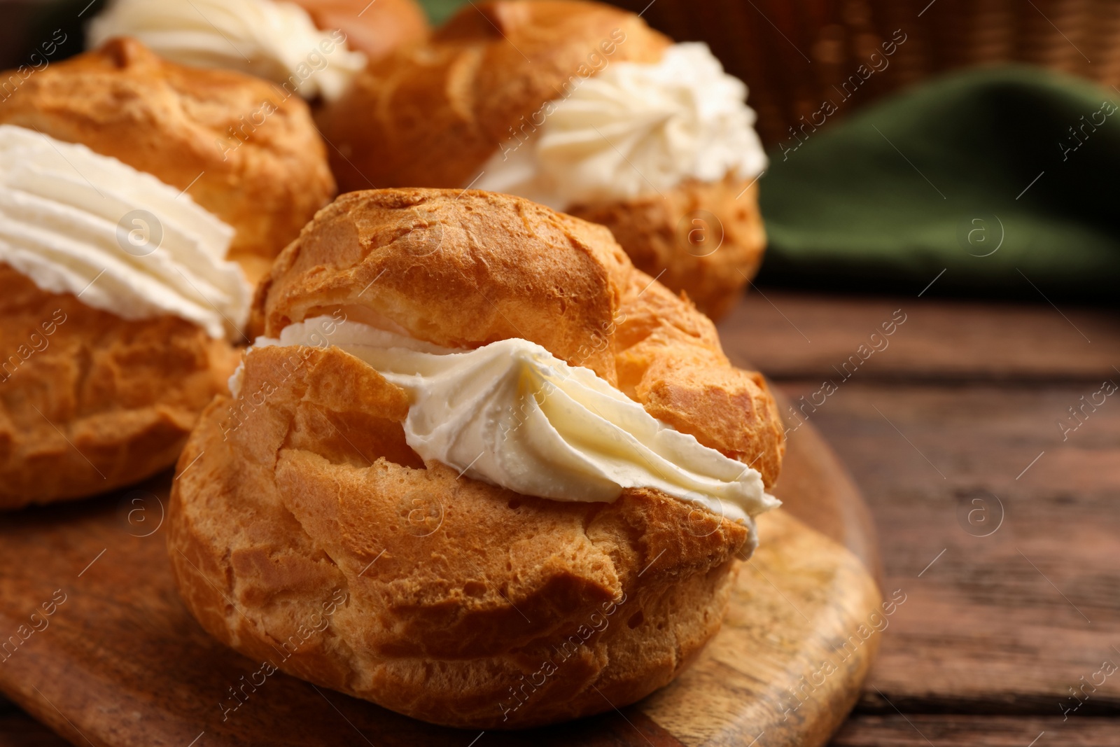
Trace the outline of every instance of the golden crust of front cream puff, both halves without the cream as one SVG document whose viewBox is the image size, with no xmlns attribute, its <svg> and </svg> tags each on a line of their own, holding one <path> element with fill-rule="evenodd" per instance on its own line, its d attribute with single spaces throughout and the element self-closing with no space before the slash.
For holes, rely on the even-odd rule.
<svg viewBox="0 0 1120 747">
<path fill-rule="evenodd" d="M 345 314 L 445 346 L 524 337 L 767 486 L 781 468 L 766 384 L 728 363 L 711 321 L 604 227 L 517 197 L 343 195 L 254 307 L 270 336 Z M 568 503 L 458 477 L 408 447 L 408 407 L 338 348 L 245 356 L 241 396 L 203 413 L 168 513 L 203 627 L 317 684 L 484 729 L 634 702 L 718 631 L 746 527 L 655 489 Z"/>
</svg>

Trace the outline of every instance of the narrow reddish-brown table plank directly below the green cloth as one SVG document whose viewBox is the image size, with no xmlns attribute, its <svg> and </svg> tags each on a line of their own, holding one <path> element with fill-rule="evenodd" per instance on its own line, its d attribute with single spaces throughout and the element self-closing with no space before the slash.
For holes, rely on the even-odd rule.
<svg viewBox="0 0 1120 747">
<path fill-rule="evenodd" d="M 915 289 L 915 296 L 921 288 Z M 879 352 L 844 362 L 895 311 L 905 315 Z M 1062 315 L 1065 315 L 1064 317 Z M 899 318 L 902 318 L 899 316 Z M 1084 336 L 1083 336 L 1084 335 Z M 1063 381 L 1118 377 L 1114 310 L 982 304 L 927 298 L 858 298 L 762 289 L 720 324 L 729 356 L 774 379 L 850 381 Z M 1092 340 L 1092 342 L 1086 342 Z M 865 354 L 866 355 L 866 354 Z M 836 366 L 836 368 L 833 368 Z M 838 371 L 840 370 L 840 371 Z"/>
</svg>

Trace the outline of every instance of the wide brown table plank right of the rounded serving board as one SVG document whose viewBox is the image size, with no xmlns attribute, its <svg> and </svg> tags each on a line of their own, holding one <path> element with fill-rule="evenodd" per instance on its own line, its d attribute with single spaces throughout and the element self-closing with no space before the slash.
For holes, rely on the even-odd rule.
<svg viewBox="0 0 1120 747">
<path fill-rule="evenodd" d="M 874 512 L 886 592 L 908 596 L 864 707 L 1060 716 L 1120 664 L 1120 395 L 1066 441 L 1055 424 L 1091 391 L 852 382 L 811 414 Z M 1120 674 L 1085 692 L 1079 716 L 1120 712 Z"/>
</svg>

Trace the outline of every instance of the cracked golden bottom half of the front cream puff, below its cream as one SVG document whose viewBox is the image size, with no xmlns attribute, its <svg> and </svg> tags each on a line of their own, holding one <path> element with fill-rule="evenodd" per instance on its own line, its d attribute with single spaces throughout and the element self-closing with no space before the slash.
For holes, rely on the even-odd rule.
<svg viewBox="0 0 1120 747">
<path fill-rule="evenodd" d="M 719 629 L 747 529 L 652 489 L 524 496 L 424 464 L 403 390 L 338 348 L 246 357 L 179 459 L 169 554 L 220 641 L 426 721 L 632 703 Z"/>
</svg>

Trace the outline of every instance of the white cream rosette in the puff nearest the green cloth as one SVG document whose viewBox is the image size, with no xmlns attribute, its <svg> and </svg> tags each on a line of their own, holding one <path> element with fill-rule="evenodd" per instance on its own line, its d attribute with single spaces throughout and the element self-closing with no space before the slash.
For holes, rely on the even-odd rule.
<svg viewBox="0 0 1120 747">
<path fill-rule="evenodd" d="M 675 44 L 655 64 L 610 63 L 566 94 L 491 157 L 475 188 L 564 211 L 766 168 L 747 86 L 706 44 Z"/>
</svg>

